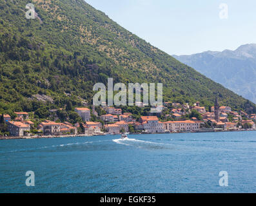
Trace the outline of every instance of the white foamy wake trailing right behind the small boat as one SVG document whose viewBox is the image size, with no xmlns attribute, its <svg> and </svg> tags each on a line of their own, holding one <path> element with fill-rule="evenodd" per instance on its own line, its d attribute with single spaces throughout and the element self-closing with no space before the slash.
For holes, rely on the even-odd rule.
<svg viewBox="0 0 256 206">
<path fill-rule="evenodd" d="M 149 142 L 143 140 L 136 140 L 133 138 L 115 139 L 113 142 L 126 146 L 139 147 L 143 149 L 172 149 L 172 144 L 164 144 L 159 142 Z"/>
</svg>

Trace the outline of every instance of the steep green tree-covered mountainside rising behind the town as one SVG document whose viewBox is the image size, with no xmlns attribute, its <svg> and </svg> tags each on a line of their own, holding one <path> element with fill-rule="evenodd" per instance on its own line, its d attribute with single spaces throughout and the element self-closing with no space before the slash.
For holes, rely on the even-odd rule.
<svg viewBox="0 0 256 206">
<path fill-rule="evenodd" d="M 164 86 L 164 100 L 215 97 L 234 109 L 255 104 L 125 30 L 83 0 L 0 0 L 0 112 L 92 102 L 96 82 L 148 82 Z M 39 97 L 39 98 L 38 98 Z M 50 99 L 50 101 L 38 101 Z M 71 104 L 71 105 L 70 105 Z M 42 109 L 46 113 L 46 109 Z"/>
</svg>

